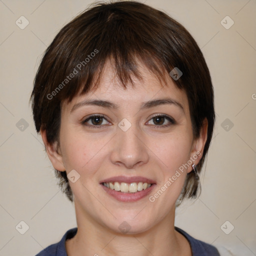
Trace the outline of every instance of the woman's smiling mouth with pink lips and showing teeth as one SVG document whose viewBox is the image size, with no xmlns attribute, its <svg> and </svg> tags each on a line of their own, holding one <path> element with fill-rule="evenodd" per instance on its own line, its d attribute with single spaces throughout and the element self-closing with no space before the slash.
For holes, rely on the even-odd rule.
<svg viewBox="0 0 256 256">
<path fill-rule="evenodd" d="M 100 181 L 102 188 L 119 201 L 137 201 L 145 197 L 156 182 L 140 176 L 117 176 Z"/>
</svg>

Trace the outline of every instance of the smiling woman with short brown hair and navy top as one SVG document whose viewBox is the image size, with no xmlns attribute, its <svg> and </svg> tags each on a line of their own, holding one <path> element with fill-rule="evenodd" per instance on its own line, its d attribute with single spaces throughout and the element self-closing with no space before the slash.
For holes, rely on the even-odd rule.
<svg viewBox="0 0 256 256">
<path fill-rule="evenodd" d="M 33 117 L 77 228 L 37 255 L 219 255 L 174 226 L 195 197 L 213 89 L 187 30 L 135 1 L 100 3 L 47 48 Z"/>
</svg>

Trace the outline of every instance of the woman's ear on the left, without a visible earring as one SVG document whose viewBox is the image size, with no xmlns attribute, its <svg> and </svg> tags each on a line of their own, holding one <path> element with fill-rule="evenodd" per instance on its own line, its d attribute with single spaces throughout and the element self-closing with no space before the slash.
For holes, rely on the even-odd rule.
<svg viewBox="0 0 256 256">
<path fill-rule="evenodd" d="M 54 143 L 49 143 L 46 137 L 46 130 L 40 129 L 40 134 L 42 136 L 42 141 L 44 143 L 45 150 L 54 169 L 64 171 L 65 167 L 63 165 L 61 152 L 59 152 L 59 149 L 57 147 L 57 141 L 55 141 Z"/>
</svg>

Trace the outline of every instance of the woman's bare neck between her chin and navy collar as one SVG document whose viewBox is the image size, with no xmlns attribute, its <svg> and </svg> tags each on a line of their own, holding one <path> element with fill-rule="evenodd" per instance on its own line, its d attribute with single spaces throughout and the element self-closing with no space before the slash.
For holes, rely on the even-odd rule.
<svg viewBox="0 0 256 256">
<path fill-rule="evenodd" d="M 100 225 L 90 216 L 78 218 L 84 212 L 76 204 L 75 211 L 77 233 L 66 240 L 68 256 L 190 255 L 184 250 L 185 237 L 174 229 L 175 207 L 157 225 L 134 234 L 115 232 Z"/>
</svg>

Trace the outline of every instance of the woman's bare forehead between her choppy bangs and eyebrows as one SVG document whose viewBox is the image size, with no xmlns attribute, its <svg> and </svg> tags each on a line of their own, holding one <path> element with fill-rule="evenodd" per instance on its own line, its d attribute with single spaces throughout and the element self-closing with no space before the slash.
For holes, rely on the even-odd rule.
<svg viewBox="0 0 256 256">
<path fill-rule="evenodd" d="M 184 111 L 188 111 L 188 100 L 183 89 L 178 88 L 166 71 L 163 71 L 161 79 L 153 74 L 143 63 L 139 62 L 139 75 L 132 76 L 133 85 L 125 84 L 126 88 L 118 80 L 115 68 L 107 61 L 102 76 L 96 87 L 86 94 L 74 96 L 70 102 L 65 102 L 63 108 L 71 110 L 73 105 L 84 99 L 103 99 L 116 102 L 117 106 L 138 106 L 141 102 L 154 98 L 172 98 L 179 102 Z"/>
</svg>

